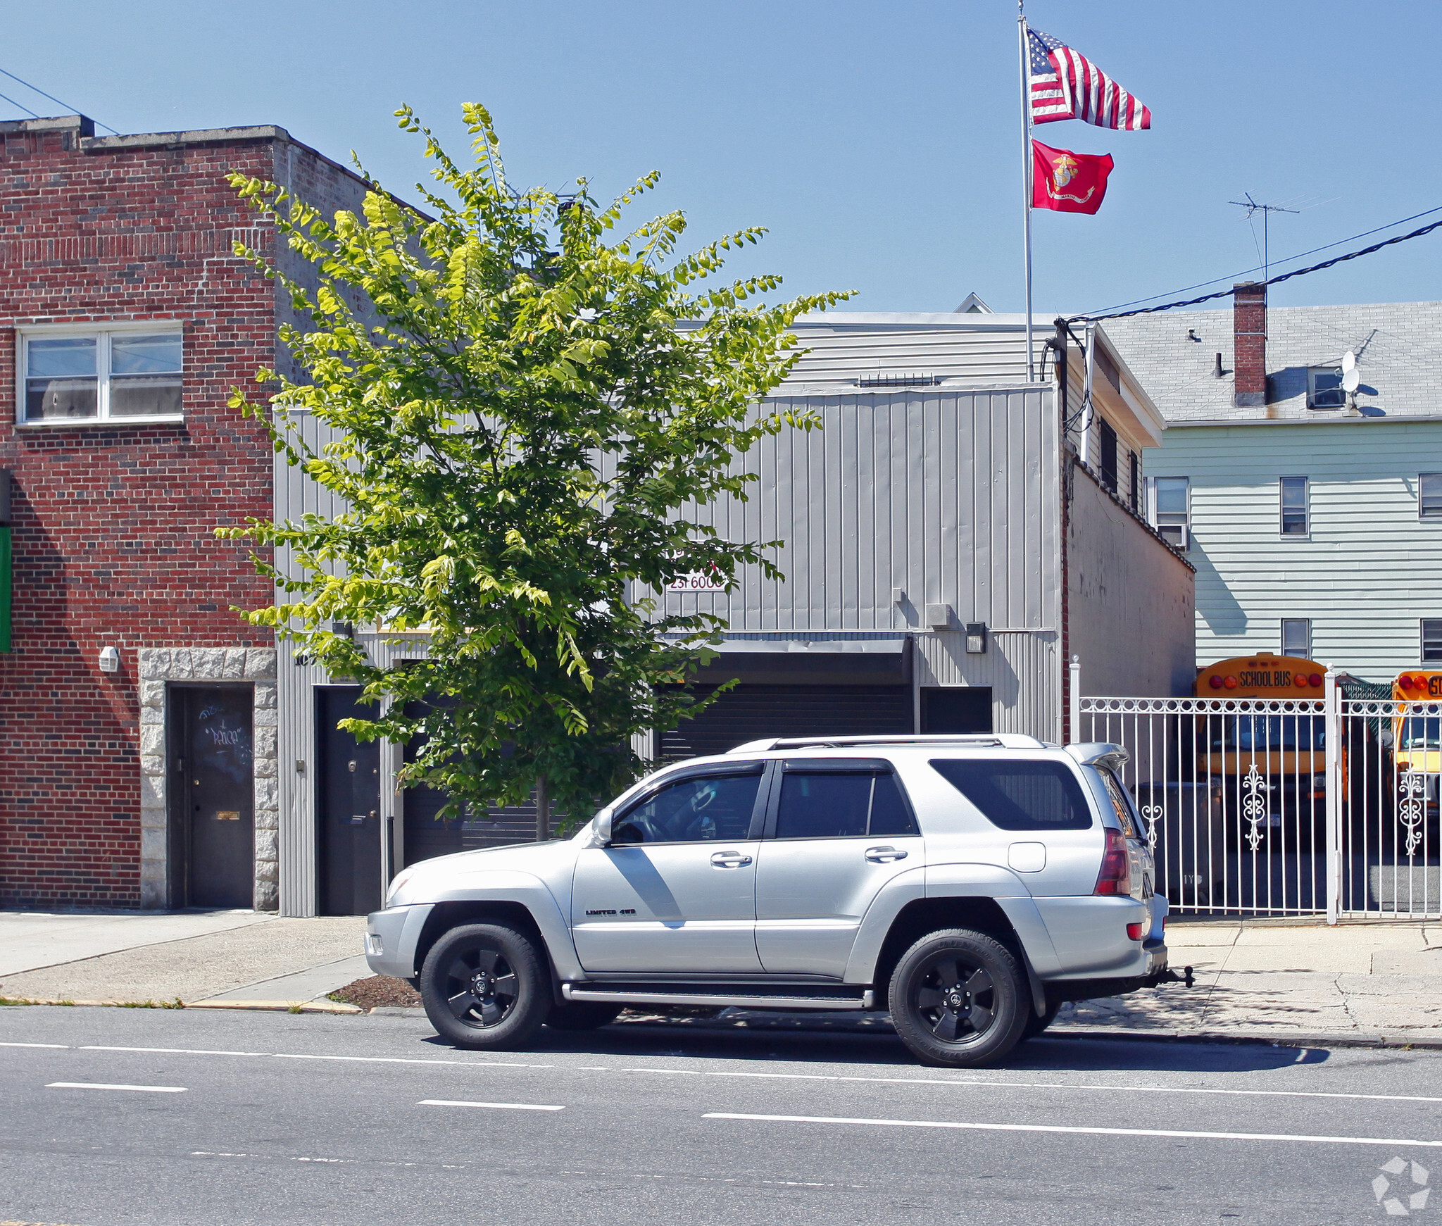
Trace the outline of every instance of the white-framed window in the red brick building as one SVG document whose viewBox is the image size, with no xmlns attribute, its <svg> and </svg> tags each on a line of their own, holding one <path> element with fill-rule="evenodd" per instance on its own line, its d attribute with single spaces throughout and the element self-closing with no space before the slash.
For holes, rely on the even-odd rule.
<svg viewBox="0 0 1442 1226">
<path fill-rule="evenodd" d="M 179 421 L 185 339 L 179 320 L 22 329 L 23 425 Z"/>
</svg>

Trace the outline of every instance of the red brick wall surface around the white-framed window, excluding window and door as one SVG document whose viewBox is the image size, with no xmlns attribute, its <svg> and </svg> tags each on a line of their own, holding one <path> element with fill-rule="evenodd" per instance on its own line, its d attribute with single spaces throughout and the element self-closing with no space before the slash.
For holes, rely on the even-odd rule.
<svg viewBox="0 0 1442 1226">
<path fill-rule="evenodd" d="M 14 475 L 13 648 L 0 655 L 0 906 L 137 906 L 141 648 L 264 648 L 271 601 L 218 525 L 271 513 L 271 451 L 226 405 L 275 362 L 275 287 L 235 258 L 273 234 L 235 169 L 358 185 L 280 130 L 87 140 L 0 124 L 0 467 Z M 235 133 L 236 130 L 231 130 Z M 339 179 L 337 179 L 339 176 Z M 183 320 L 185 421 L 17 425 L 16 327 Z M 120 649 L 114 674 L 102 646 Z M 153 899 L 150 900 L 153 901 Z"/>
</svg>

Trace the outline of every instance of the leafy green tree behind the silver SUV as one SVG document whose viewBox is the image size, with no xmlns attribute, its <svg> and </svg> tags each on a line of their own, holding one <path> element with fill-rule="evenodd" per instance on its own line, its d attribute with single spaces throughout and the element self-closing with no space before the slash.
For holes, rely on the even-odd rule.
<svg viewBox="0 0 1442 1226">
<path fill-rule="evenodd" d="M 686 681 L 724 622 L 655 593 L 743 565 L 779 577 L 780 542 L 722 539 L 686 509 L 744 499 L 738 454 L 816 424 L 758 402 L 796 361 L 796 316 L 845 294 L 774 306 L 758 297 L 779 277 L 708 283 L 764 231 L 678 254 L 681 212 L 620 226 L 656 173 L 606 208 L 584 180 L 515 190 L 490 115 L 463 114 L 472 169 L 397 111 L 435 163 L 430 216 L 371 180 L 359 216 L 326 218 L 232 176 L 314 271 L 307 288 L 247 252 L 309 325 L 281 333 L 297 378 L 261 371 L 268 395 L 232 404 L 348 509 L 219 531 L 290 551 L 286 570 L 257 557 L 283 596 L 245 616 L 360 684 L 375 714 L 345 721 L 355 736 L 421 746 L 402 785 L 448 792 L 451 812 L 534 786 L 583 812 L 647 769 L 634 733 L 708 701 Z M 333 441 L 309 447 L 296 410 Z M 424 632 L 425 656 L 378 666 L 333 623 Z"/>
</svg>

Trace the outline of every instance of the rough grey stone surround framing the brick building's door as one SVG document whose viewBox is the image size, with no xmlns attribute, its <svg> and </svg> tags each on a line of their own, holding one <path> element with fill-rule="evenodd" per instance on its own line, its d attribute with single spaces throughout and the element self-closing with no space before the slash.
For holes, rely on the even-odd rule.
<svg viewBox="0 0 1442 1226">
<path fill-rule="evenodd" d="M 169 903 L 166 793 L 166 694 L 169 681 L 249 681 L 255 689 L 252 754 L 255 764 L 255 910 L 273 912 L 278 900 L 280 801 L 275 792 L 275 649 L 140 649 L 140 903 Z"/>
</svg>

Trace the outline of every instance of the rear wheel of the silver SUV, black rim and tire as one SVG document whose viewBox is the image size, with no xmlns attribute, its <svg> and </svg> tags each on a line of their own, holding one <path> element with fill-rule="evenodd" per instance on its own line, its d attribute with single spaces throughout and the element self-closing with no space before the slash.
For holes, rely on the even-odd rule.
<svg viewBox="0 0 1442 1226">
<path fill-rule="evenodd" d="M 1011 951 L 981 932 L 923 936 L 897 962 L 887 992 L 891 1023 L 923 1064 L 970 1069 L 1001 1060 L 1032 1013 Z"/>
</svg>

